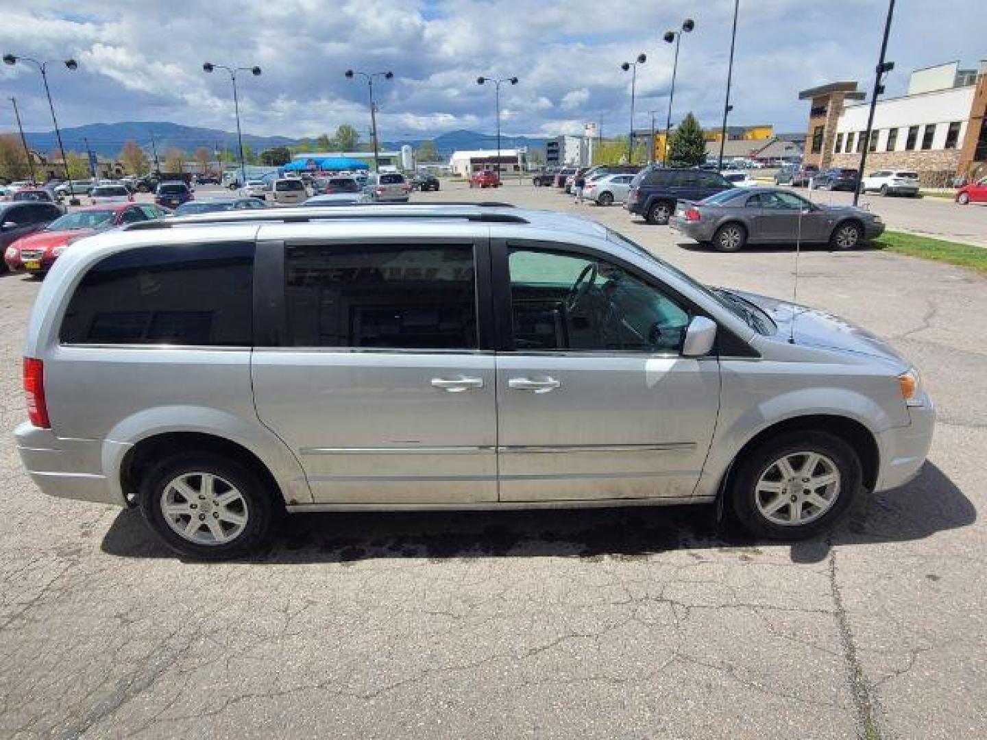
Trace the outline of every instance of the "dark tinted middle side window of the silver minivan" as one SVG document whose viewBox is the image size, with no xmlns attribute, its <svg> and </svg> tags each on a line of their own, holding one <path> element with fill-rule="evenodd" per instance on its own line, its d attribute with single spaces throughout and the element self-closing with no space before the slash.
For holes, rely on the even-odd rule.
<svg viewBox="0 0 987 740">
<path fill-rule="evenodd" d="M 319 245 L 285 251 L 291 346 L 475 349 L 472 245 Z"/>
</svg>

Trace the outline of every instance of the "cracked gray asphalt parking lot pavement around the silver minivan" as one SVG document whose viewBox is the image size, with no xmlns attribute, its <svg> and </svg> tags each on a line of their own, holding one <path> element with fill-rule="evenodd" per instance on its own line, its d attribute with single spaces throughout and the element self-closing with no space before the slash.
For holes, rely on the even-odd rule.
<svg viewBox="0 0 987 740">
<path fill-rule="evenodd" d="M 529 185 L 713 283 L 791 296 L 787 250 L 681 245 Z M 39 283 L 0 276 L 0 736 L 987 736 L 987 283 L 876 251 L 801 255 L 798 299 L 922 368 L 929 463 L 795 546 L 706 509 L 292 519 L 242 562 L 177 559 L 139 514 L 42 496 L 25 415 Z"/>
</svg>

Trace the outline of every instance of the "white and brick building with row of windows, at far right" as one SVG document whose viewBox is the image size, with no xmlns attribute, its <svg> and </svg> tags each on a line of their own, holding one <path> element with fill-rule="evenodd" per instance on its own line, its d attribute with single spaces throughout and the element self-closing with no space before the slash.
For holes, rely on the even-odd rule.
<svg viewBox="0 0 987 740">
<path fill-rule="evenodd" d="M 870 104 L 856 82 L 837 82 L 798 94 L 811 101 L 803 162 L 821 170 L 859 167 L 868 146 L 868 172 L 913 170 L 923 185 L 949 185 L 987 160 L 987 62 L 957 62 L 912 72 L 908 92 L 878 100 L 867 139 Z"/>
</svg>

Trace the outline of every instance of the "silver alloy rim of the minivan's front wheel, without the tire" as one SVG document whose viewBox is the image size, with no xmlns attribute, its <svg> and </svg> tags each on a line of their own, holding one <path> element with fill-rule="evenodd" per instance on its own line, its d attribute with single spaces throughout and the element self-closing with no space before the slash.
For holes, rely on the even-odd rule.
<svg viewBox="0 0 987 740">
<path fill-rule="evenodd" d="M 772 524 L 797 527 L 829 511 L 840 495 L 840 472 L 827 456 L 792 452 L 769 465 L 754 485 L 754 501 Z"/>
</svg>

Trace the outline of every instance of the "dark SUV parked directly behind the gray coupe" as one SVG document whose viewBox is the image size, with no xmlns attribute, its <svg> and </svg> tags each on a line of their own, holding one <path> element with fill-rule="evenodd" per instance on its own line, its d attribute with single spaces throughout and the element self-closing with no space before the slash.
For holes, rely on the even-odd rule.
<svg viewBox="0 0 987 740">
<path fill-rule="evenodd" d="M 649 224 L 667 224 L 677 200 L 702 200 L 732 186 L 716 172 L 648 167 L 631 181 L 624 207 Z"/>
</svg>

